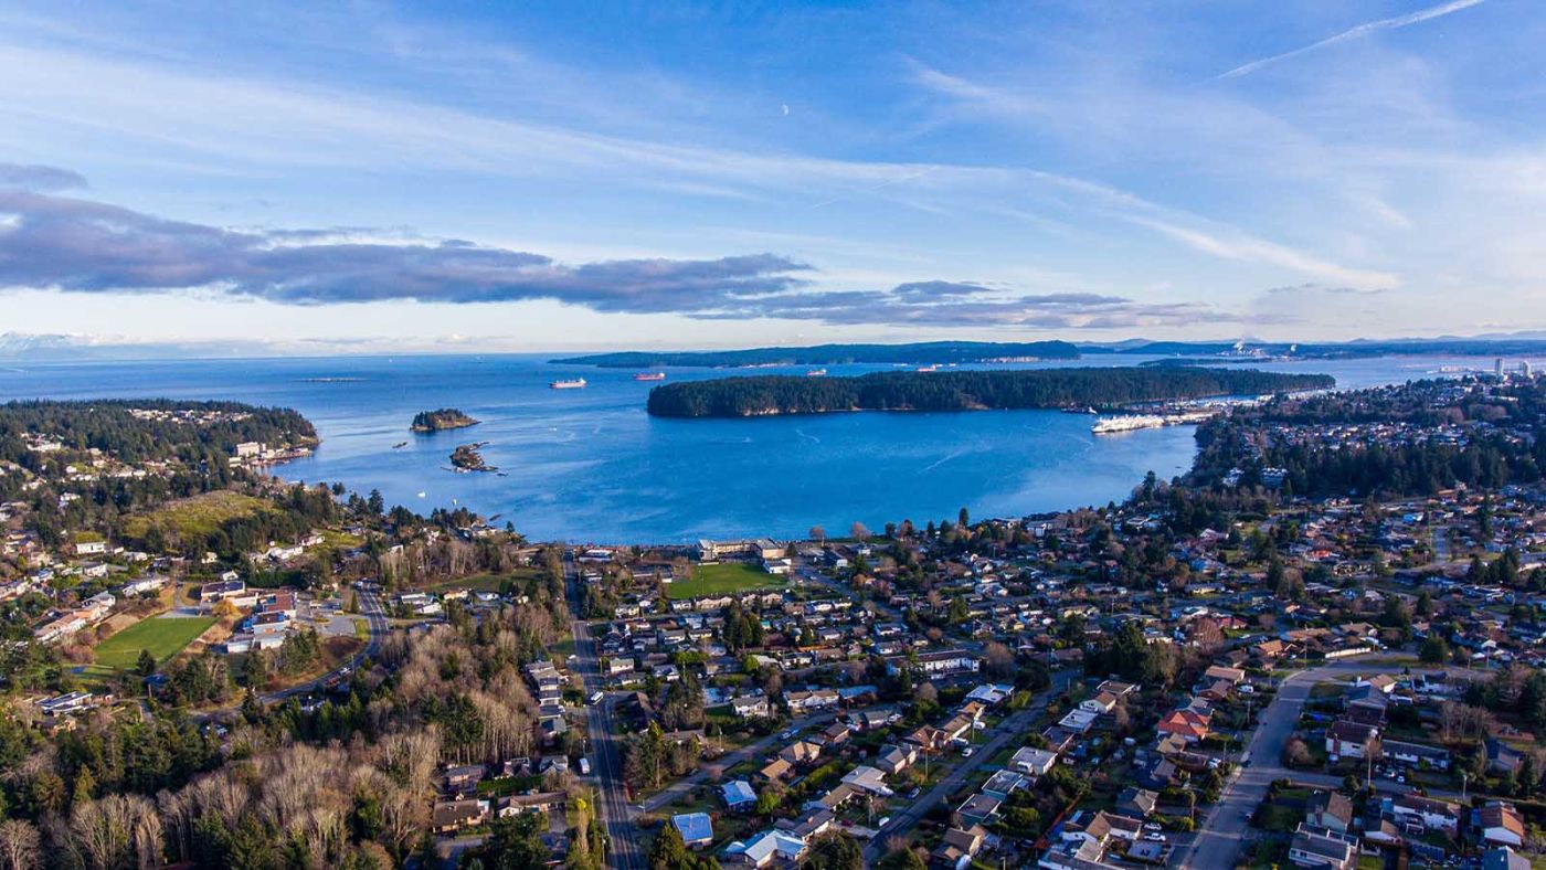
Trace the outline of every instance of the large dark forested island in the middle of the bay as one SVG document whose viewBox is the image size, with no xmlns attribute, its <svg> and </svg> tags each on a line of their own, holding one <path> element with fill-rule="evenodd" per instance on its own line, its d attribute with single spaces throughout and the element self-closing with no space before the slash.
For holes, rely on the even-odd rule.
<svg viewBox="0 0 1546 870">
<path fill-rule="evenodd" d="M 1336 379 L 1326 374 L 1180 366 L 761 376 L 657 386 L 649 393 L 649 414 L 761 417 L 832 411 L 1082 410 L 1212 396 L 1265 396 L 1334 385 Z"/>
</svg>

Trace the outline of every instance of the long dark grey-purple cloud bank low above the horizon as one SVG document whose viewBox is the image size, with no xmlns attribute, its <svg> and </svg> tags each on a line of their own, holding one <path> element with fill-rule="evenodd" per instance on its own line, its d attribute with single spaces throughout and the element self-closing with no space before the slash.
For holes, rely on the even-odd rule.
<svg viewBox="0 0 1546 870">
<path fill-rule="evenodd" d="M 360 241 L 368 227 L 237 230 L 32 187 L 85 187 L 56 167 L 0 164 L 0 287 L 73 294 L 213 292 L 291 306 L 552 300 L 595 312 L 832 325 L 1125 328 L 1228 321 L 1197 303 L 1087 292 L 1005 294 L 965 281 L 812 291 L 815 267 L 775 253 L 566 264 L 461 240 Z"/>
</svg>

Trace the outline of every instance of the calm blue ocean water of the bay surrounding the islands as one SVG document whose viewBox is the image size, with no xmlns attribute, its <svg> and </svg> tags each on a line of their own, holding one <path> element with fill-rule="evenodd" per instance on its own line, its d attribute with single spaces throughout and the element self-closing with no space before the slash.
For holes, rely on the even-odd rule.
<svg viewBox="0 0 1546 870">
<path fill-rule="evenodd" d="M 1093 355 L 1065 365 L 1135 365 Z M 1057 363 L 1040 363 L 1045 368 Z M 1432 376 L 1490 360 L 1393 357 L 1268 363 L 1319 371 L 1342 386 Z M 826 366 L 861 374 L 884 366 Z M 668 380 L 724 371 L 666 369 Z M 804 366 L 758 369 L 801 374 Z M 419 511 L 465 505 L 532 539 L 679 542 L 697 538 L 846 535 L 912 519 L 1019 516 L 1124 499 L 1147 471 L 1183 473 L 1192 427 L 1090 434 L 1091 417 L 1059 411 L 855 413 L 750 420 L 645 414 L 652 383 L 632 371 L 558 366 L 536 355 L 326 357 L 91 363 L 0 363 L 0 400 L 230 399 L 295 408 L 317 425 L 314 456 L 284 479 L 382 491 Z M 550 389 L 584 377 L 584 389 Z M 453 406 L 481 425 L 416 436 L 417 411 Z M 489 442 L 501 474 L 450 471 L 451 448 Z M 407 442 L 405 447 L 394 445 Z"/>
</svg>

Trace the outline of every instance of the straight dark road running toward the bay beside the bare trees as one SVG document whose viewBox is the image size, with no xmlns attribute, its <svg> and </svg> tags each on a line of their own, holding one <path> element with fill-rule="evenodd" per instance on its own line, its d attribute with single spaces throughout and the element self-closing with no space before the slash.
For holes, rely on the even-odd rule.
<svg viewBox="0 0 1546 870">
<path fill-rule="evenodd" d="M 569 587 L 569 609 L 580 613 L 583 596 L 580 595 L 580 572 L 569 555 L 564 555 L 564 581 Z M 591 637 L 591 624 L 581 618 L 570 623 L 570 634 L 575 638 L 575 658 L 567 664 L 580 674 L 584 685 L 586 731 L 591 737 L 591 779 L 597 790 L 597 814 L 606 830 L 608 865 L 617 870 L 646 870 L 648 856 L 638 847 L 638 831 L 634 828 L 632 814 L 628 807 L 628 790 L 623 783 L 623 746 L 621 728 L 617 720 L 617 698 L 606 695 L 598 703 L 589 703 L 591 695 L 603 691 L 601 657 L 595 638 Z"/>
</svg>

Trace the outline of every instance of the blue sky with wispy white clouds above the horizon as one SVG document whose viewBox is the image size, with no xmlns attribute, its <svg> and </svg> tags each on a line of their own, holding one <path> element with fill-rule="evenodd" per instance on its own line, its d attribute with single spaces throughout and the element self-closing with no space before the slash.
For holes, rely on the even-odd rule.
<svg viewBox="0 0 1546 870">
<path fill-rule="evenodd" d="M 1546 326 L 1529 3 L 0 6 L 0 332 Z"/>
</svg>

